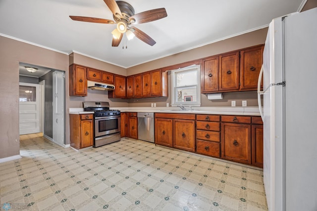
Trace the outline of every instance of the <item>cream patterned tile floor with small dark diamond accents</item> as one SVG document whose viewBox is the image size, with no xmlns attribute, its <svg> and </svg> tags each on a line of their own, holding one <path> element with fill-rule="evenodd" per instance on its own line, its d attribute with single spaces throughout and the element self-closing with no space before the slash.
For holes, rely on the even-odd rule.
<svg viewBox="0 0 317 211">
<path fill-rule="evenodd" d="M 20 154 L 0 163 L 2 210 L 267 210 L 263 171 L 148 142 L 76 152 L 30 134 Z"/>
</svg>

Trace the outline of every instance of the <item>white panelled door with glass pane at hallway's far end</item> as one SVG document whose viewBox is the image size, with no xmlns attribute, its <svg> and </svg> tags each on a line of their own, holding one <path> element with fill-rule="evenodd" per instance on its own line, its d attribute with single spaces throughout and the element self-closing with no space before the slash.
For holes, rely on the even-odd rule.
<svg viewBox="0 0 317 211">
<path fill-rule="evenodd" d="M 19 128 L 20 135 L 40 132 L 40 85 L 20 83 Z"/>
</svg>

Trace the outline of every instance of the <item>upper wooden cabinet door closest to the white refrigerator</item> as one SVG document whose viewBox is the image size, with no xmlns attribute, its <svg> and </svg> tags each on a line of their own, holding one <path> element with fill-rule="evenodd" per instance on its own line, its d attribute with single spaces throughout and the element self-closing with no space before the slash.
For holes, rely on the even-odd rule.
<svg viewBox="0 0 317 211">
<path fill-rule="evenodd" d="M 257 90 L 258 78 L 263 63 L 264 45 L 241 51 L 240 89 Z"/>
</svg>

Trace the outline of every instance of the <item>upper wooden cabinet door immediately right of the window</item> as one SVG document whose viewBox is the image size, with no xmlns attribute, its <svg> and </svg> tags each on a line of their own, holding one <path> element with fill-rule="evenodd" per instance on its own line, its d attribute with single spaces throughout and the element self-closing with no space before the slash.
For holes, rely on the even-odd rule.
<svg viewBox="0 0 317 211">
<path fill-rule="evenodd" d="M 202 93 L 219 90 L 219 56 L 203 61 L 201 74 Z"/>
</svg>

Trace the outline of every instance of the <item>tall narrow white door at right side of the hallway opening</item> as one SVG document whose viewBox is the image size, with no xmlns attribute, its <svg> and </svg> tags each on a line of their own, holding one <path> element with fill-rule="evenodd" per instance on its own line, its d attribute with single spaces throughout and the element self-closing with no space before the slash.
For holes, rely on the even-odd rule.
<svg viewBox="0 0 317 211">
<path fill-rule="evenodd" d="M 53 141 L 64 143 L 64 73 L 53 72 Z"/>
</svg>

